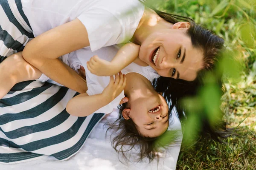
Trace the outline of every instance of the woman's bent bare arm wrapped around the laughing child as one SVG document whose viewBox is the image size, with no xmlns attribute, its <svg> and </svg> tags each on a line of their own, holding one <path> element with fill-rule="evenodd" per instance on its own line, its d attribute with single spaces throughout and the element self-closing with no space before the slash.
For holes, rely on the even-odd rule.
<svg viewBox="0 0 256 170">
<path fill-rule="evenodd" d="M 89 45 L 87 30 L 76 19 L 35 37 L 25 46 L 22 55 L 50 79 L 85 93 L 87 87 L 84 79 L 58 57 Z"/>
</svg>

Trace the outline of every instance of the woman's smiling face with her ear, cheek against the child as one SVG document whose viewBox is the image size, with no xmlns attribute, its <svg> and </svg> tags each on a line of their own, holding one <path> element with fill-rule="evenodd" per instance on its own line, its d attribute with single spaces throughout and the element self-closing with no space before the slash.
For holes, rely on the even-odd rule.
<svg viewBox="0 0 256 170">
<path fill-rule="evenodd" d="M 193 48 L 188 28 L 189 23 L 180 22 L 154 31 L 142 43 L 139 58 L 160 76 L 194 80 L 203 68 L 203 51 Z"/>
</svg>

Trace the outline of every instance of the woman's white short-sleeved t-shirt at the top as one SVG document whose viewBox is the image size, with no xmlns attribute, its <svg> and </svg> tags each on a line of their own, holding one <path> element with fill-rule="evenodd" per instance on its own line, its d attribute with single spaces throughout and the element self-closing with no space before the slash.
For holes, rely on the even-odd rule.
<svg viewBox="0 0 256 170">
<path fill-rule="evenodd" d="M 35 37 L 78 18 L 87 29 L 92 51 L 128 42 L 144 13 L 144 6 L 139 0 L 21 0 L 21 2 Z"/>
</svg>

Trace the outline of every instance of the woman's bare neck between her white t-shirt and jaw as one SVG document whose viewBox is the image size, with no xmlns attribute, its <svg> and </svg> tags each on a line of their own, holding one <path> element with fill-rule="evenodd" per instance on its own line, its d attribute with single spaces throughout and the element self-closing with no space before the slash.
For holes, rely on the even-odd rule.
<svg viewBox="0 0 256 170">
<path fill-rule="evenodd" d="M 154 10 L 145 7 L 144 14 L 134 32 L 132 42 L 141 45 L 148 35 L 160 29 L 172 28 L 173 24 L 159 17 Z"/>
</svg>

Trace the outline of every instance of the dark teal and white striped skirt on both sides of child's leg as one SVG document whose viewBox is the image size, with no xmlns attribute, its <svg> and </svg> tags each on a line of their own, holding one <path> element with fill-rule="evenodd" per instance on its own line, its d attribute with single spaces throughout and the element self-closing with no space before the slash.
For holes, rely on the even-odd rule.
<svg viewBox="0 0 256 170">
<path fill-rule="evenodd" d="M 32 38 L 20 0 L 0 0 L 0 62 L 22 51 Z M 29 161 L 42 155 L 66 160 L 76 154 L 104 116 L 70 116 L 65 108 L 76 95 L 47 82 L 15 85 L 0 99 L 0 163 Z"/>
</svg>

